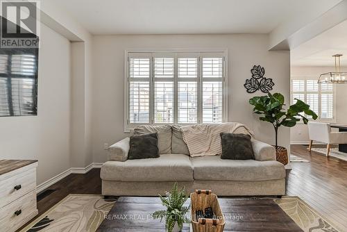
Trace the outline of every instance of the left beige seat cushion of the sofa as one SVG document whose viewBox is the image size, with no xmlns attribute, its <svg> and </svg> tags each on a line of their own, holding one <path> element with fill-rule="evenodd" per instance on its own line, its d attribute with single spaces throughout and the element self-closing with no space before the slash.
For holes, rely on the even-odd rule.
<svg viewBox="0 0 347 232">
<path fill-rule="evenodd" d="M 101 179 L 106 181 L 193 181 L 189 156 L 164 154 L 159 158 L 108 161 L 101 167 Z"/>
</svg>

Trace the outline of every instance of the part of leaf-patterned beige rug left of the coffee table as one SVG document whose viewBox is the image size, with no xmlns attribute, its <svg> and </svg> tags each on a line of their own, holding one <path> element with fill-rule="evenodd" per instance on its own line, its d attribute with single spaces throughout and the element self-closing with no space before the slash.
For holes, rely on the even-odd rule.
<svg viewBox="0 0 347 232">
<path fill-rule="evenodd" d="M 21 232 L 93 232 L 114 204 L 100 195 L 69 194 Z"/>
</svg>

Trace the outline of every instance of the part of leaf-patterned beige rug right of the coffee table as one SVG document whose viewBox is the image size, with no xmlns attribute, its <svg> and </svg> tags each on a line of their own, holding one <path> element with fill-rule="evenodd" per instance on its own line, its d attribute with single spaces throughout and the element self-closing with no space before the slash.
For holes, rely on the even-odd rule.
<svg viewBox="0 0 347 232">
<path fill-rule="evenodd" d="M 299 197 L 282 197 L 274 201 L 305 232 L 338 232 L 335 226 Z"/>
</svg>

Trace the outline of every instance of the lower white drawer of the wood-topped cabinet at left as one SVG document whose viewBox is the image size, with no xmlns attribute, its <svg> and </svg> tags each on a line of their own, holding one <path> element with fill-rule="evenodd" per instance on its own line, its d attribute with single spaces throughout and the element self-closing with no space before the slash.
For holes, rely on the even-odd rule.
<svg viewBox="0 0 347 232">
<path fill-rule="evenodd" d="M 29 192 L 0 209 L 1 231 L 15 231 L 37 215 L 36 191 Z M 16 215 L 17 213 L 17 215 Z"/>
</svg>

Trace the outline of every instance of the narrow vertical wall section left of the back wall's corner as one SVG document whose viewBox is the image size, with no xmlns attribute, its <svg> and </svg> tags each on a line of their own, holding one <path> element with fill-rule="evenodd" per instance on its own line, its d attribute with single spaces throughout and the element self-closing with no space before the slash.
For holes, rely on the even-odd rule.
<svg viewBox="0 0 347 232">
<path fill-rule="evenodd" d="M 71 167 L 92 163 L 91 51 L 90 42 L 71 42 Z"/>
</svg>

